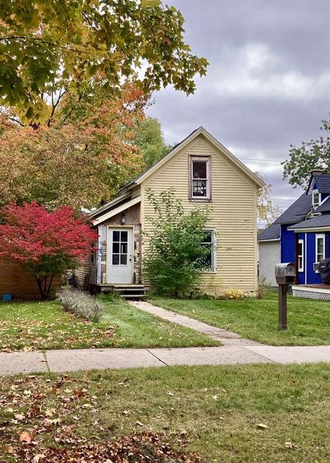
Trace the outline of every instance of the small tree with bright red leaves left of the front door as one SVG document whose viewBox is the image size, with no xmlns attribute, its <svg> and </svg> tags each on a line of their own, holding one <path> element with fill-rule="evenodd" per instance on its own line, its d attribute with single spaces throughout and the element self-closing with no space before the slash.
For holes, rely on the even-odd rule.
<svg viewBox="0 0 330 463">
<path fill-rule="evenodd" d="M 69 206 L 47 211 L 36 202 L 8 204 L 1 210 L 0 257 L 17 261 L 36 280 L 47 299 L 55 275 L 76 268 L 91 252 L 98 235 Z"/>
</svg>

